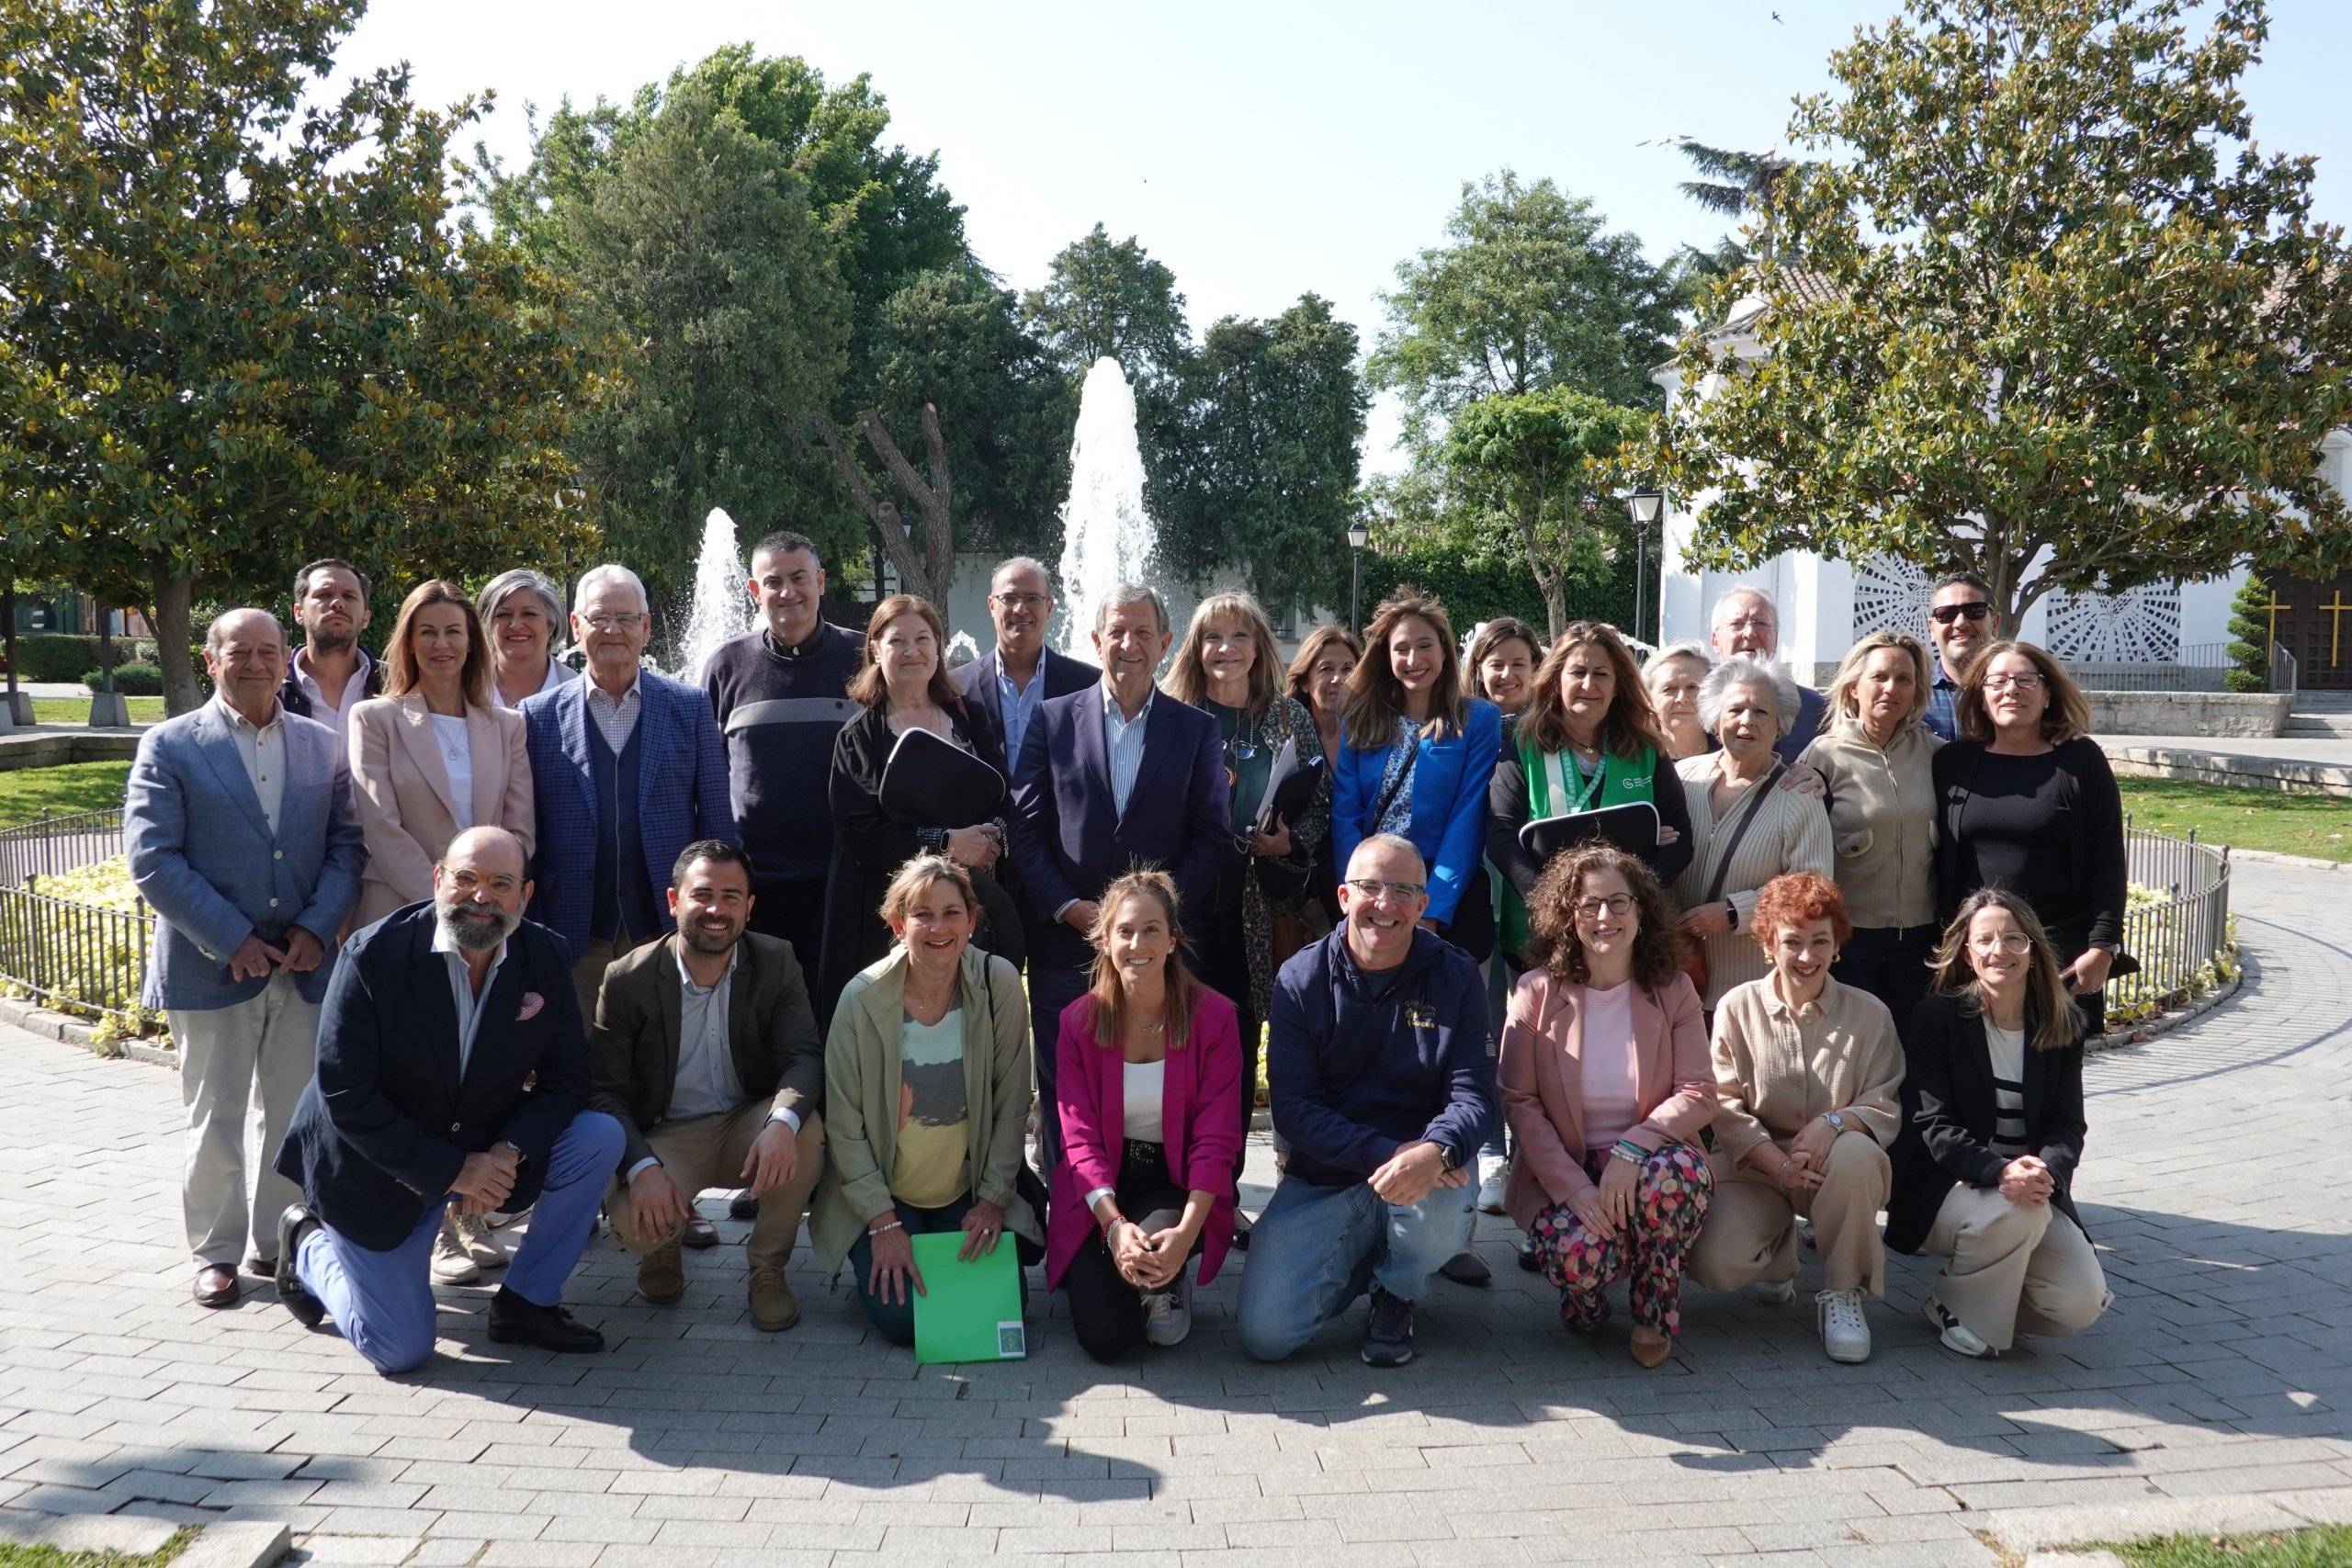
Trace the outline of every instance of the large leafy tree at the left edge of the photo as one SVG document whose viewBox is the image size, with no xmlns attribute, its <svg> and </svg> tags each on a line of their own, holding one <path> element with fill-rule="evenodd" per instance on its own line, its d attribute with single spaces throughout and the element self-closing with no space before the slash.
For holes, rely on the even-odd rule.
<svg viewBox="0 0 2352 1568">
<path fill-rule="evenodd" d="M 360 0 L 0 0 L 0 548 L 158 630 L 310 555 L 550 559 L 590 397 L 569 306 L 456 237 L 477 103 L 405 71 L 320 94 Z M 313 96 L 315 94 L 315 96 Z"/>
</svg>

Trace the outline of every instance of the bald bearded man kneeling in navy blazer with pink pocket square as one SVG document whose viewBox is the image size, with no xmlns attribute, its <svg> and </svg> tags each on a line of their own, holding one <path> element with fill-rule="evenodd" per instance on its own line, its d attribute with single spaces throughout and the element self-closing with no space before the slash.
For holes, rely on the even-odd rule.
<svg viewBox="0 0 2352 1568">
<path fill-rule="evenodd" d="M 621 1159 L 588 1110 L 588 1032 L 572 957 L 522 919 L 522 842 L 468 827 L 433 867 L 433 903 L 367 926 L 327 987 L 318 1074 L 278 1150 L 303 1204 L 278 1220 L 278 1298 L 332 1316 L 381 1373 L 433 1354 L 428 1260 L 442 1208 L 532 1211 L 489 1298 L 489 1338 L 604 1349 L 562 1307 Z"/>
</svg>

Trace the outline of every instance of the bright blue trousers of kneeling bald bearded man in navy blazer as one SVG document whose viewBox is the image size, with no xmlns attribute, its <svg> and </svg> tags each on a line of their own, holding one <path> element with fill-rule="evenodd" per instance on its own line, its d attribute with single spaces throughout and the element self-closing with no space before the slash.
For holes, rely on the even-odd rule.
<svg viewBox="0 0 2352 1568">
<path fill-rule="evenodd" d="M 532 1204 L 532 1225 L 506 1269 L 506 1286 L 539 1307 L 564 1298 L 564 1281 L 588 1248 L 597 1204 L 621 1164 L 621 1124 L 583 1110 L 548 1152 L 548 1180 Z M 433 1237 L 449 1197 L 426 1204 L 400 1246 L 379 1253 L 320 1225 L 303 1237 L 294 1274 L 327 1307 L 350 1347 L 379 1373 L 405 1373 L 433 1354 Z"/>
</svg>

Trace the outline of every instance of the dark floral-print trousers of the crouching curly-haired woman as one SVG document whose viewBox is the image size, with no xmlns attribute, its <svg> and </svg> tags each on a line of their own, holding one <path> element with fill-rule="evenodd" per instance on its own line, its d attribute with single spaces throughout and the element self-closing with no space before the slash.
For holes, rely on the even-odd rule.
<svg viewBox="0 0 2352 1568">
<path fill-rule="evenodd" d="M 1585 1154 L 1585 1173 L 1602 1178 L 1609 1150 Z M 1708 1218 L 1715 1173 L 1708 1157 L 1670 1143 L 1642 1161 L 1632 1222 L 1618 1237 L 1595 1237 L 1566 1204 L 1550 1204 L 1531 1229 L 1543 1276 L 1559 1286 L 1559 1321 L 1581 1333 L 1609 1319 L 1609 1286 L 1628 1281 L 1632 1321 L 1665 1338 L 1682 1331 L 1682 1255 Z"/>
</svg>

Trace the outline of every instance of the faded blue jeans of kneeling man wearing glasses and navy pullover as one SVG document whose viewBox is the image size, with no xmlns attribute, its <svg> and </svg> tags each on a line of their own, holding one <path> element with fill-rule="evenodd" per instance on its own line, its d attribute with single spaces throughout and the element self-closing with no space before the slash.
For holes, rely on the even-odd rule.
<svg viewBox="0 0 2352 1568">
<path fill-rule="evenodd" d="M 1421 1300 L 1430 1274 L 1470 1246 L 1477 1182 L 1435 1187 L 1411 1208 L 1395 1208 L 1367 1182 L 1317 1187 L 1284 1175 L 1249 1232 L 1242 1349 L 1279 1361 L 1348 1309 L 1367 1286 Z"/>
</svg>

